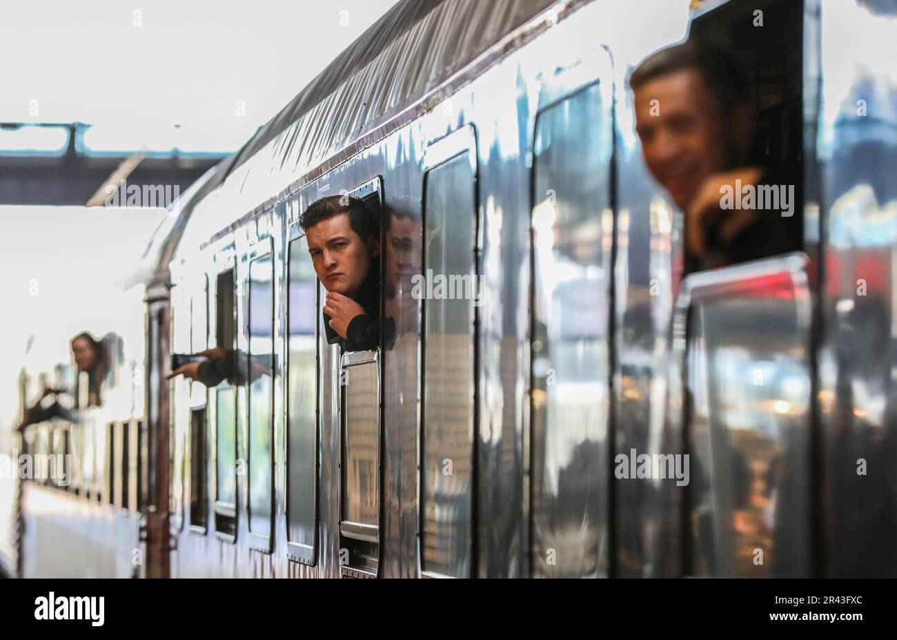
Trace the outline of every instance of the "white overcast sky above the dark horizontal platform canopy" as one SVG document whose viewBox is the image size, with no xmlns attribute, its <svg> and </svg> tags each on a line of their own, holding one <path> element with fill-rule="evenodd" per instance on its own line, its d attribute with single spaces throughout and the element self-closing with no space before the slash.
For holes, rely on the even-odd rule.
<svg viewBox="0 0 897 640">
<path fill-rule="evenodd" d="M 0 122 L 182 125 L 245 140 L 393 4 L 5 2 Z"/>
</svg>

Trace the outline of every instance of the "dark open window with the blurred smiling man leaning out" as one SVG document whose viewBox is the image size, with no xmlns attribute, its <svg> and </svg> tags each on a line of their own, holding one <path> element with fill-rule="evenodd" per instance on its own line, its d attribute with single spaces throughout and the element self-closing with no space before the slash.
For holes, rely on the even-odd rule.
<svg viewBox="0 0 897 640">
<path fill-rule="evenodd" d="M 803 19 L 800 1 L 720 4 L 632 72 L 646 164 L 685 212 L 685 274 L 804 247 Z"/>
</svg>

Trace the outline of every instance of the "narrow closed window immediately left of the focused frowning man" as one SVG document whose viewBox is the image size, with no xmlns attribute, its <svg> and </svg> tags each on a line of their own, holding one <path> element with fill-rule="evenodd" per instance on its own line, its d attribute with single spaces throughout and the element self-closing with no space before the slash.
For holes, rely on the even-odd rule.
<svg viewBox="0 0 897 640">
<path fill-rule="evenodd" d="M 287 292 L 287 540 L 312 563 L 318 496 L 318 276 L 304 236 L 290 242 Z"/>
</svg>

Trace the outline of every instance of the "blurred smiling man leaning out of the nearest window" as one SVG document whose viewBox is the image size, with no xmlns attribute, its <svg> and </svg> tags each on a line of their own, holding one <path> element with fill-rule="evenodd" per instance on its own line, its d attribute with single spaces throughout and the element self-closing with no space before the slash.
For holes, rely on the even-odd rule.
<svg viewBox="0 0 897 640">
<path fill-rule="evenodd" d="M 693 41 L 662 49 L 632 72 L 630 85 L 645 162 L 685 213 L 686 271 L 800 248 L 793 197 L 762 210 L 730 208 L 722 198 L 724 189 L 740 197 L 758 185 L 797 193 L 795 180 L 752 162 L 755 113 L 726 51 Z"/>
</svg>

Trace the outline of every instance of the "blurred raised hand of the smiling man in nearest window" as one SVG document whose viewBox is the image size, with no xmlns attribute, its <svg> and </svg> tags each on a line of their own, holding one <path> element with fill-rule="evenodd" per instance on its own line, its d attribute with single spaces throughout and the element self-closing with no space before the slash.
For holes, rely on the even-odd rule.
<svg viewBox="0 0 897 640">
<path fill-rule="evenodd" d="M 741 167 L 735 171 L 715 173 L 701 184 L 698 195 L 692 200 L 685 212 L 685 241 L 687 250 L 694 258 L 701 258 L 707 250 L 707 238 L 704 237 L 708 216 L 720 215 L 720 201 L 724 186 L 732 188 L 734 197 L 740 198 L 741 192 L 736 189 L 736 180 L 741 186 L 756 185 L 762 171 L 759 167 Z M 718 221 L 719 238 L 730 241 L 753 223 L 757 217 L 756 209 L 732 209 L 725 212 L 725 217 Z"/>
</svg>

